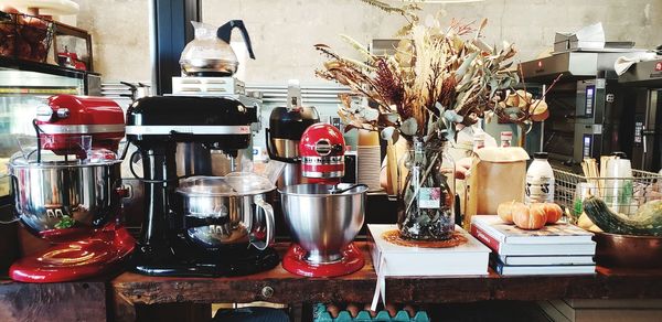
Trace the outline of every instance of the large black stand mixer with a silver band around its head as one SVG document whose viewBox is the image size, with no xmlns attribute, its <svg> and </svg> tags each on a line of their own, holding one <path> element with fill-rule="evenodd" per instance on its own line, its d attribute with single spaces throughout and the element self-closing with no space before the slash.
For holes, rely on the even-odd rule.
<svg viewBox="0 0 662 322">
<path fill-rule="evenodd" d="M 242 204 L 242 211 L 234 210 L 236 202 L 228 204 L 229 210 L 216 202 L 212 205 L 214 211 L 191 215 L 185 210 L 184 198 L 177 191 L 182 179 L 177 176 L 178 142 L 202 143 L 207 149 L 236 155 L 237 150 L 249 146 L 250 124 L 255 121 L 257 111 L 232 98 L 145 97 L 130 106 L 126 132 L 128 141 L 138 147 L 136 153 L 140 153 L 142 159 L 143 174 L 140 180 L 145 184 L 146 202 L 146 218 L 134 258 L 138 272 L 156 276 L 233 276 L 263 271 L 278 264 L 278 255 L 268 247 L 273 242 L 268 239 L 273 237 L 267 237 L 267 242 L 260 244 L 248 242 L 265 235 L 257 223 L 259 217 L 270 215 L 268 219 L 273 225 L 273 212 L 268 213 L 261 197 L 255 197 L 255 204 Z M 131 172 L 136 175 L 134 169 Z M 194 181 L 189 183 L 195 187 L 200 178 L 191 178 Z M 200 182 L 203 181 L 214 183 L 223 181 L 223 178 L 206 176 Z M 248 182 L 255 183 L 255 180 Z M 216 189 L 200 186 L 201 191 L 212 193 Z M 236 193 L 232 187 L 228 191 Z M 260 192 L 264 191 L 268 189 L 263 186 Z M 223 194 L 217 195 L 217 200 L 223 200 Z M 186 198 L 186 203 L 190 203 L 190 198 Z M 237 212 L 243 217 L 238 218 Z M 245 230 L 245 238 L 234 238 L 237 227 Z M 215 238 L 217 243 L 199 240 L 200 234 L 192 232 L 200 232 L 201 228 L 205 228 L 204 236 Z M 266 235 L 273 236 L 268 228 L 267 225 Z M 231 235 L 232 238 L 228 237 Z M 227 240 L 232 243 L 225 243 Z"/>
</svg>

